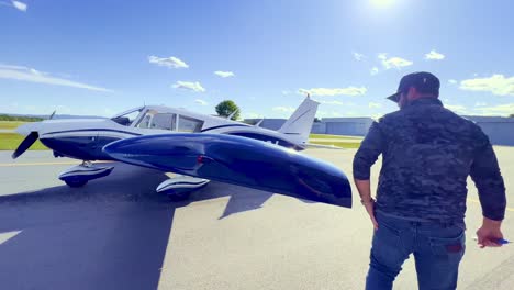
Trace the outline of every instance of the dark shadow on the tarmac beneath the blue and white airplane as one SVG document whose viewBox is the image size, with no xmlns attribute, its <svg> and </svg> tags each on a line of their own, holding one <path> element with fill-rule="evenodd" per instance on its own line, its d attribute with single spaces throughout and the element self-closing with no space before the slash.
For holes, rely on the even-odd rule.
<svg viewBox="0 0 514 290">
<path fill-rule="evenodd" d="M 223 219 L 272 196 L 213 181 L 171 202 L 155 192 L 163 172 L 115 167 L 83 188 L 0 196 L 0 289 L 156 289 L 177 208 L 230 196 Z"/>
</svg>

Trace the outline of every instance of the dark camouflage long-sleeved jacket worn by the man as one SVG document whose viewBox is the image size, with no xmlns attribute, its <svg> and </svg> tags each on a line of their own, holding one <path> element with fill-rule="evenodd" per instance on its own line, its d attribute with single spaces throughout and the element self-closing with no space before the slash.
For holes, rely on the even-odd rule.
<svg viewBox="0 0 514 290">
<path fill-rule="evenodd" d="M 503 220 L 505 187 L 488 136 L 473 122 L 420 99 L 373 122 L 354 158 L 354 178 L 368 180 L 382 154 L 377 210 L 413 220 L 463 223 L 467 177 L 483 216 Z"/>
</svg>

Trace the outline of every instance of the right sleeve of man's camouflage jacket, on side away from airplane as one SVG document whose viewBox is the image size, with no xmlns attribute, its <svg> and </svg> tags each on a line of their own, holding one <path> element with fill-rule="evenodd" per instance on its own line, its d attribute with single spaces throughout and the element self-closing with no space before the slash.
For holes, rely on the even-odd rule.
<svg viewBox="0 0 514 290">
<path fill-rule="evenodd" d="M 483 216 L 501 221 L 505 216 L 505 186 L 489 138 L 481 130 L 478 138 L 481 142 L 471 165 L 470 176 L 478 189 Z"/>
</svg>

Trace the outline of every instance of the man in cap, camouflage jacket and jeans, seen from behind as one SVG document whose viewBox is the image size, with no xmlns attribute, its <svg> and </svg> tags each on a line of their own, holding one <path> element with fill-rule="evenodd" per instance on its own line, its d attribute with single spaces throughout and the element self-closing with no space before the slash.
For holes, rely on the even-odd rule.
<svg viewBox="0 0 514 290">
<path fill-rule="evenodd" d="M 503 238 L 505 187 L 488 136 L 443 107 L 439 80 L 404 76 L 388 99 L 400 107 L 373 122 L 354 158 L 354 178 L 375 227 L 366 289 L 392 289 L 413 254 L 420 289 L 456 289 L 465 254 L 466 180 L 473 179 L 483 223 L 480 247 Z M 382 155 L 377 200 L 370 168 Z"/>
</svg>

